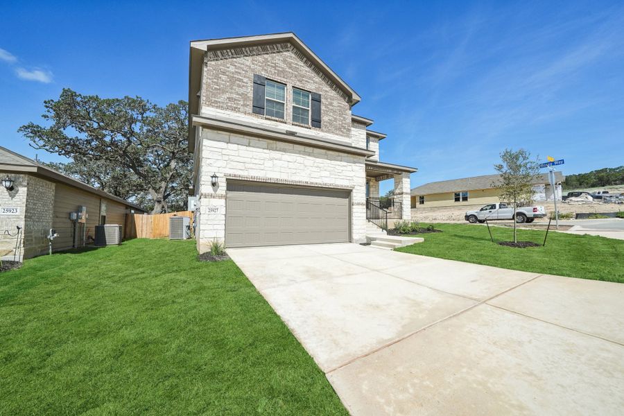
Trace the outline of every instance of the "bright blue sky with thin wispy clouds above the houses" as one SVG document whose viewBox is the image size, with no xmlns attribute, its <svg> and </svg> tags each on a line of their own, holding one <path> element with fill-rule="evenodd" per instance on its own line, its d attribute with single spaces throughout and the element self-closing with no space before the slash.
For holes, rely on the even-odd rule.
<svg viewBox="0 0 624 416">
<path fill-rule="evenodd" d="M 621 1 L 14 1 L 0 28 L 0 143 L 43 160 L 17 128 L 63 87 L 166 104 L 187 98 L 189 40 L 294 31 L 412 187 L 493 173 L 505 147 L 564 173 L 624 164 Z"/>
</svg>

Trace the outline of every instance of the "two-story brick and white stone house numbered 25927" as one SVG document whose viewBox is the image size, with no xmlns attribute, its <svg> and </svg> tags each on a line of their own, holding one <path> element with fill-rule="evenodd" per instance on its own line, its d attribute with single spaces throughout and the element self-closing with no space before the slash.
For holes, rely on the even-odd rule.
<svg viewBox="0 0 624 416">
<path fill-rule="evenodd" d="M 385 135 L 352 114 L 358 101 L 293 33 L 191 42 L 198 250 L 364 242 L 367 205 L 390 178 L 409 219 L 416 169 L 379 162 Z"/>
</svg>

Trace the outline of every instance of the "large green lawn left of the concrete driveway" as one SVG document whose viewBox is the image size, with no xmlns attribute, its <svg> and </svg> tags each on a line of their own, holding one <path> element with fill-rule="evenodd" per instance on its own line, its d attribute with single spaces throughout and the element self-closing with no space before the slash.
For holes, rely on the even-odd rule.
<svg viewBox="0 0 624 416">
<path fill-rule="evenodd" d="M 192 241 L 27 260 L 0 274 L 0 414 L 347 414 L 232 261 Z"/>
</svg>

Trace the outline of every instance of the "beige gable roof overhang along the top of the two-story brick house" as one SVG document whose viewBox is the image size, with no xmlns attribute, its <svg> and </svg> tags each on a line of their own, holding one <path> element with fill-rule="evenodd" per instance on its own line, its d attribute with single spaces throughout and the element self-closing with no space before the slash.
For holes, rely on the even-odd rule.
<svg viewBox="0 0 624 416">
<path fill-rule="evenodd" d="M 295 46 L 303 55 L 315 64 L 332 83 L 336 84 L 343 91 L 349 105 L 356 105 L 361 97 L 350 87 L 343 78 L 331 70 L 322 59 L 320 59 L 297 35 L 293 32 L 272 33 L 269 35 L 225 37 L 222 39 L 192 40 L 189 54 L 189 150 L 195 147 L 195 135 L 192 130 L 191 116 L 199 114 L 200 103 L 198 92 L 201 87 L 202 67 L 204 54 L 206 51 L 240 48 L 243 46 L 258 46 L 263 44 L 276 44 L 289 42 Z"/>
</svg>

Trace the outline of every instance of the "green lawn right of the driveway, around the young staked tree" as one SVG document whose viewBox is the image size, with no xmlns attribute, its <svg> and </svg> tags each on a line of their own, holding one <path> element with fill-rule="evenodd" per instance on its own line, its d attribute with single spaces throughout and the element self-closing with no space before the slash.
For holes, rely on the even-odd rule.
<svg viewBox="0 0 624 416">
<path fill-rule="evenodd" d="M 423 234 L 424 243 L 396 250 L 526 272 L 624 283 L 624 241 L 550 232 L 546 247 L 511 248 L 493 244 L 487 227 L 435 224 L 443 232 Z M 490 227 L 494 241 L 512 241 L 513 229 Z M 544 242 L 545 231 L 518 230 L 519 241 Z"/>
</svg>

